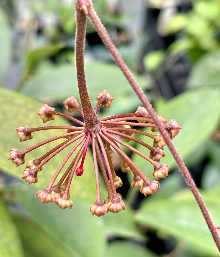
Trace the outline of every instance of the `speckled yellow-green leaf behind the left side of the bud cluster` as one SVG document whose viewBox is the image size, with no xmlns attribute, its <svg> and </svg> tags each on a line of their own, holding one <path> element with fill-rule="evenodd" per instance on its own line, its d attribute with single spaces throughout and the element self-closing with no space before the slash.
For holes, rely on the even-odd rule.
<svg viewBox="0 0 220 257">
<path fill-rule="evenodd" d="M 36 114 L 36 112 L 41 108 L 42 104 L 22 94 L 18 94 L 14 91 L 4 89 L 0 89 L 0 101 L 2 104 L 2 109 L 0 113 L 0 122 L 2 129 L 2 133 L 0 134 L 0 167 L 8 174 L 13 175 L 17 178 L 21 178 L 23 170 L 25 169 L 25 164 L 16 167 L 12 161 L 8 161 L 8 151 L 12 148 L 16 148 L 19 150 L 27 149 L 30 146 L 37 144 L 45 139 L 62 134 L 63 131 L 37 131 L 33 133 L 32 140 L 19 142 L 19 137 L 14 131 L 15 128 L 24 125 L 29 125 L 29 127 L 41 127 L 43 125 L 41 118 Z M 57 116 L 54 121 L 47 122 L 46 126 L 65 126 L 67 123 L 67 120 Z M 36 150 L 26 154 L 25 158 L 27 161 L 39 158 L 44 153 L 48 152 L 61 142 L 63 142 L 62 139 L 43 145 L 40 148 L 37 148 Z M 71 148 L 72 146 L 65 148 L 59 154 L 54 156 L 52 160 L 45 164 L 43 170 L 38 174 L 39 181 L 37 183 L 37 187 L 42 187 L 43 189 L 48 185 L 54 173 L 56 172 Z M 70 159 L 72 160 L 72 158 Z M 90 150 L 88 149 L 84 163 L 85 172 L 81 177 L 76 176 L 73 179 L 72 185 L 70 187 L 71 197 L 88 199 L 92 202 L 95 201 L 96 185 L 93 167 L 93 158 Z M 36 185 L 34 184 L 31 186 L 35 187 Z"/>
</svg>

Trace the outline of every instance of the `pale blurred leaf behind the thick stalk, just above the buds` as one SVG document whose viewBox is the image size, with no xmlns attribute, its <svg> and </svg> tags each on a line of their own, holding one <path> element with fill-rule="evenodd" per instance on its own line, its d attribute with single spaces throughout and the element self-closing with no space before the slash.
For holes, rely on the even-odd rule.
<svg viewBox="0 0 220 257">
<path fill-rule="evenodd" d="M 90 62 L 85 64 L 86 80 L 91 99 L 103 90 L 107 90 L 114 97 L 134 95 L 132 88 L 120 69 L 113 64 Z M 135 77 L 140 86 L 145 87 L 146 82 Z M 63 101 L 74 95 L 78 98 L 77 78 L 74 65 L 62 65 L 42 71 L 33 77 L 22 88 L 22 93 L 34 98 L 47 98 Z M 96 99 L 95 99 L 96 101 Z"/>
</svg>

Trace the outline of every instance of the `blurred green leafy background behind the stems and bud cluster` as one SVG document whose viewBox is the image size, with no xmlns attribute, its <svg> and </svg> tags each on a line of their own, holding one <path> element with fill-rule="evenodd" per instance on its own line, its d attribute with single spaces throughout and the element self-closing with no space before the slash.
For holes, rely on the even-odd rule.
<svg viewBox="0 0 220 257">
<path fill-rule="evenodd" d="M 185 183 L 167 148 L 166 157 L 161 162 L 170 165 L 172 172 L 166 180 L 160 181 L 161 188 L 157 194 L 144 198 L 140 208 L 135 211 L 132 207 L 140 199 L 137 196 L 139 190 L 130 188 L 125 194 L 125 212 L 115 215 L 109 213 L 100 218 L 91 215 L 89 205 L 96 198 L 91 152 L 86 157 L 87 172 L 76 178 L 70 188 L 74 201 L 71 210 L 61 211 L 50 204 L 42 206 L 39 199 L 34 197 L 37 190 L 48 184 L 68 149 L 45 166 L 39 173 L 37 184 L 27 186 L 21 181 L 22 168 L 16 168 L 7 160 L 8 150 L 28 148 L 40 139 L 36 132 L 32 142 L 19 143 L 13 130 L 25 124 L 32 127 L 42 125 L 36 117 L 36 111 L 41 107 L 40 101 L 61 108 L 62 101 L 70 95 L 78 98 L 74 65 L 74 1 L 21 2 L 27 4 L 25 12 L 28 18 L 20 16 L 15 0 L 0 3 L 1 85 L 7 87 L 8 81 L 11 81 L 12 66 L 18 67 L 20 71 L 14 84 L 16 90 L 0 89 L 0 167 L 5 174 L 0 180 L 0 255 L 130 257 L 138 254 L 156 257 L 159 256 L 157 244 L 169 241 L 170 251 L 161 251 L 160 256 L 171 251 L 176 257 L 218 256 L 196 201 L 189 190 L 184 189 Z M 156 2 L 148 1 L 153 8 L 163 8 L 165 1 Z M 110 31 L 126 31 L 124 24 L 129 21 L 129 15 L 112 10 L 105 0 L 94 1 L 94 8 Z M 217 224 L 220 213 L 220 205 L 216 200 L 220 193 L 219 18 L 218 0 L 194 1 L 188 12 L 176 13 L 164 24 L 164 34 L 176 36 L 169 48 L 148 52 L 143 57 L 143 65 L 150 75 L 161 65 L 169 69 L 182 55 L 192 63 L 186 91 L 170 101 L 161 100 L 152 94 L 153 76 L 138 74 L 139 53 L 129 43 L 129 36 L 125 36 L 123 41 L 124 34 L 113 33 L 115 42 L 125 42 L 119 46 L 120 53 L 134 70 L 134 76 L 146 95 L 154 100 L 157 113 L 167 119 L 175 118 L 182 127 L 173 143 L 183 160 L 189 167 L 203 165 L 204 159 L 207 161 L 201 174 L 201 189 Z M 88 33 L 94 33 L 90 23 Z M 115 96 L 111 108 L 103 110 L 99 116 L 135 111 L 140 101 L 104 47 L 93 47 L 87 42 L 85 58 L 88 90 L 93 105 L 96 103 L 95 96 L 104 89 Z M 61 117 L 50 122 L 51 125 L 66 123 Z M 53 131 L 43 132 L 41 140 L 55 135 Z M 151 141 L 149 144 L 152 144 Z M 51 145 L 49 148 L 43 146 L 44 151 L 51 149 Z M 137 149 L 141 150 L 141 146 Z M 28 158 L 40 154 L 41 150 L 36 149 Z M 135 155 L 131 158 L 146 176 L 152 178 L 152 167 L 148 162 Z M 8 175 L 11 176 L 10 183 L 5 184 L 4 179 L 7 180 Z M 127 179 L 131 180 L 130 174 Z M 106 190 L 101 186 L 105 197 Z M 155 247 L 148 244 L 152 241 L 152 233 L 157 237 Z"/>
</svg>

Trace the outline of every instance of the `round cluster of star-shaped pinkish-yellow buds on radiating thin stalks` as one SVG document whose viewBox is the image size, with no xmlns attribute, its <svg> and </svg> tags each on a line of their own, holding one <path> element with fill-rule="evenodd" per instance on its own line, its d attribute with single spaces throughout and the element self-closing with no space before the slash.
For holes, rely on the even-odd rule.
<svg viewBox="0 0 220 257">
<path fill-rule="evenodd" d="M 106 90 L 100 93 L 96 98 L 98 103 L 95 108 L 95 113 L 97 113 L 100 107 L 109 108 L 112 100 L 114 99 L 114 97 L 111 96 Z M 76 109 L 83 116 L 83 111 L 79 108 L 79 104 L 73 96 L 65 100 L 63 104 L 69 112 L 73 112 Z M 74 174 L 76 176 L 81 176 L 84 172 L 83 164 L 90 141 L 92 143 L 97 188 L 96 202 L 90 206 L 90 211 L 93 215 L 95 214 L 99 217 L 108 212 L 117 213 L 120 210 L 125 209 L 122 196 L 116 192 L 116 188 L 122 186 L 122 180 L 116 175 L 114 170 L 112 163 L 114 152 L 118 153 L 122 158 L 122 172 L 133 173 L 134 177 L 131 186 L 133 188 L 139 187 L 141 193 L 145 196 L 156 193 L 158 187 L 160 186 L 157 180 L 168 176 L 168 172 L 170 171 L 169 166 L 159 163 L 160 159 L 164 156 L 163 147 L 166 144 L 162 136 L 160 134 L 154 135 L 135 128 L 150 127 L 152 132 L 158 131 L 144 107 L 139 106 L 135 113 L 120 114 L 100 119 L 99 122 L 101 123 L 101 129 L 96 134 L 93 134 L 92 132 L 85 132 L 84 122 L 81 122 L 70 115 L 56 112 L 53 107 L 50 107 L 47 104 L 44 104 L 37 114 L 41 117 L 43 123 L 49 120 L 54 120 L 55 115 L 59 115 L 69 119 L 72 122 L 76 122 L 79 125 L 72 126 L 67 124 L 66 126 L 47 126 L 40 128 L 29 128 L 27 125 L 25 125 L 16 129 L 20 141 L 32 139 L 32 133 L 35 131 L 47 129 L 64 130 L 62 134 L 44 140 L 28 149 L 17 150 L 13 148 L 10 150 L 9 160 L 12 160 L 17 166 L 19 166 L 25 163 L 25 155 L 30 151 L 54 140 L 63 138 L 64 141 L 62 143 L 38 159 L 33 159 L 27 163 L 22 178 L 29 182 L 29 184 L 38 182 L 38 172 L 42 170 L 45 163 L 47 163 L 68 145 L 74 143 L 73 148 L 60 164 L 53 178 L 49 182 L 49 185 L 36 193 L 36 196 L 40 198 L 42 204 L 49 202 L 56 203 L 61 209 L 68 207 L 71 208 L 73 206 L 69 193 L 70 184 Z M 178 134 L 180 126 L 174 119 L 168 122 L 161 115 L 158 115 L 158 118 L 160 119 L 164 128 L 167 130 L 171 139 Z M 142 134 L 152 138 L 152 146 L 135 138 L 135 134 Z M 121 140 L 120 138 L 124 140 Z M 149 150 L 149 156 L 129 145 L 127 142 L 131 140 L 147 148 Z M 130 151 L 133 151 L 146 161 L 150 162 L 154 167 L 153 176 L 157 180 L 151 180 L 145 177 L 145 175 L 132 162 L 132 160 L 121 150 L 119 145 L 126 147 Z M 74 154 L 75 156 L 72 157 Z M 62 177 L 58 182 L 56 182 L 56 185 L 54 185 L 58 175 L 67 162 L 69 162 L 68 168 L 65 172 L 63 172 Z M 104 200 L 101 199 L 100 195 L 98 163 L 108 191 L 108 196 Z"/>
</svg>

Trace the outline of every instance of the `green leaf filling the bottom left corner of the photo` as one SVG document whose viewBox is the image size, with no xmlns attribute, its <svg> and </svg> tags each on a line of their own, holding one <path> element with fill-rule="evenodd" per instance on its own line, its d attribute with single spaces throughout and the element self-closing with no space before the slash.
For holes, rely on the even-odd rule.
<svg viewBox="0 0 220 257">
<path fill-rule="evenodd" d="M 23 257 L 23 249 L 16 227 L 4 202 L 0 198 L 0 255 Z"/>
</svg>

